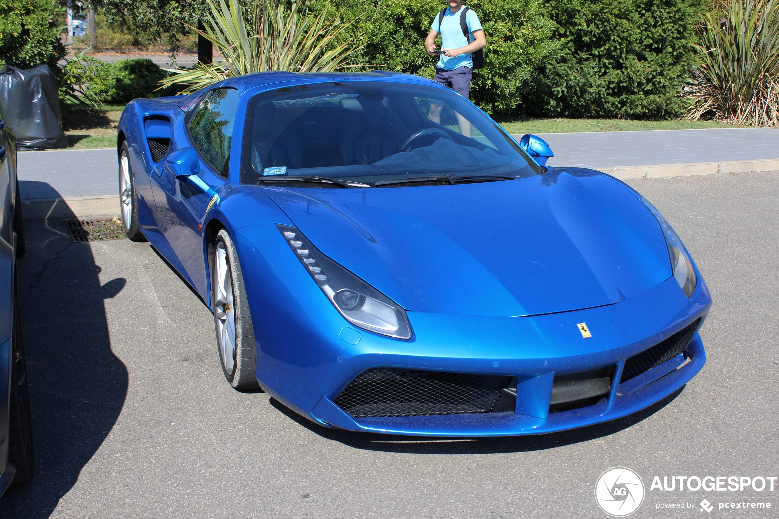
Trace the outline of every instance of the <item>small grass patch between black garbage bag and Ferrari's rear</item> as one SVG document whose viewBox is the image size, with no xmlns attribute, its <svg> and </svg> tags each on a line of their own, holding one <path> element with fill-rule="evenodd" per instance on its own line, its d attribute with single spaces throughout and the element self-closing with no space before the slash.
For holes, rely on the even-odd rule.
<svg viewBox="0 0 779 519">
<path fill-rule="evenodd" d="M 105 104 L 93 113 L 80 107 L 66 107 L 62 129 L 68 138 L 68 149 L 114 148 L 116 127 L 124 109 L 123 104 Z"/>
</svg>

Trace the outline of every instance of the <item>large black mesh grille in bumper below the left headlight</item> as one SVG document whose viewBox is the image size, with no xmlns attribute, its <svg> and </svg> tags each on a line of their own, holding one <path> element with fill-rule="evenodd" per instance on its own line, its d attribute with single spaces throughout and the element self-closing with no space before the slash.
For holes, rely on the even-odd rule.
<svg viewBox="0 0 779 519">
<path fill-rule="evenodd" d="M 492 412 L 512 378 L 375 368 L 352 380 L 335 403 L 355 418 Z"/>
</svg>

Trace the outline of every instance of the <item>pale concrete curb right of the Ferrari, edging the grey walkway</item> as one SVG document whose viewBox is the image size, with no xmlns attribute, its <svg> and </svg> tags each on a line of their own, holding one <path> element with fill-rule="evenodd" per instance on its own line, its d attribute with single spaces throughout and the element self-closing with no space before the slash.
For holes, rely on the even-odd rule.
<svg viewBox="0 0 779 519">
<path fill-rule="evenodd" d="M 689 177 L 693 175 L 717 175 L 760 173 L 779 170 L 779 159 L 738 160 L 732 162 L 696 162 L 680 164 L 650 164 L 649 166 L 617 166 L 600 168 L 606 174 L 622 181 L 640 178 Z"/>
</svg>

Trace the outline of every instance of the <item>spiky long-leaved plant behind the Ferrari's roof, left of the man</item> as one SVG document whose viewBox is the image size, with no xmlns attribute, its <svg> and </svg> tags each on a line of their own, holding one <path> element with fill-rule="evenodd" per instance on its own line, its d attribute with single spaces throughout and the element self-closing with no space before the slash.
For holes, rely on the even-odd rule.
<svg viewBox="0 0 779 519">
<path fill-rule="evenodd" d="M 263 0 L 256 4 L 249 24 L 245 22 L 238 0 L 208 0 L 206 30 L 198 31 L 213 43 L 224 61 L 194 68 L 168 69 L 171 77 L 163 86 L 185 85 L 182 93 L 191 93 L 234 75 L 271 70 L 287 72 L 330 72 L 347 68 L 347 60 L 360 47 L 337 44 L 340 33 L 351 23 L 328 23 L 325 9 L 318 16 L 308 14 L 308 3 L 300 9 L 293 1 Z M 192 27 L 192 30 L 197 30 Z"/>
</svg>

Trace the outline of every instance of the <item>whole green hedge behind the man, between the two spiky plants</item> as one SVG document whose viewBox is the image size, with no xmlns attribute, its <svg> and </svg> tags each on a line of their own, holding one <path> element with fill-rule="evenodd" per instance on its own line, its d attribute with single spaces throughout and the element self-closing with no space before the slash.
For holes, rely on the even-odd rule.
<svg viewBox="0 0 779 519">
<path fill-rule="evenodd" d="M 471 99 L 492 114 L 668 118 L 693 65 L 705 0 L 471 0 L 487 36 Z M 356 19 L 355 64 L 432 78 L 423 48 L 438 0 L 315 0 Z"/>
</svg>

